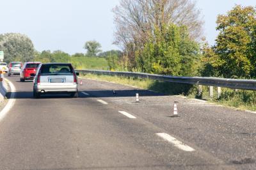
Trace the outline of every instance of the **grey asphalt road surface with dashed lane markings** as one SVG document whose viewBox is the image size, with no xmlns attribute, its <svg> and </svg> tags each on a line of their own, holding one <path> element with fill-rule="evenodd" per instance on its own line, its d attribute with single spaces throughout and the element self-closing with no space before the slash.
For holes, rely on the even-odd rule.
<svg viewBox="0 0 256 170">
<path fill-rule="evenodd" d="M 0 169 L 256 169 L 251 112 L 86 79 L 79 98 L 34 99 L 32 82 L 8 79 Z"/>
</svg>

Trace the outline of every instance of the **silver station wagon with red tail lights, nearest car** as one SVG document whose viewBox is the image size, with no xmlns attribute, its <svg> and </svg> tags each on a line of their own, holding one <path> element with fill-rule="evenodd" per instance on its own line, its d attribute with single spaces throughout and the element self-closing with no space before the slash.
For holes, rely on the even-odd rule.
<svg viewBox="0 0 256 170">
<path fill-rule="evenodd" d="M 45 93 L 70 93 L 71 97 L 78 97 L 77 75 L 79 73 L 68 63 L 41 64 L 33 80 L 33 96 L 40 98 Z"/>
</svg>

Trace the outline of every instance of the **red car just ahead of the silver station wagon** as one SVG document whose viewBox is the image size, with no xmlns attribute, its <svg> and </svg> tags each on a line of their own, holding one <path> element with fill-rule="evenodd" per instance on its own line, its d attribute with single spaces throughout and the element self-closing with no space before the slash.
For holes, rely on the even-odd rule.
<svg viewBox="0 0 256 170">
<path fill-rule="evenodd" d="M 31 74 L 36 74 L 36 69 L 40 65 L 40 62 L 27 62 L 24 63 L 20 71 L 20 81 L 24 82 L 25 80 L 33 80 L 34 77 Z"/>
</svg>

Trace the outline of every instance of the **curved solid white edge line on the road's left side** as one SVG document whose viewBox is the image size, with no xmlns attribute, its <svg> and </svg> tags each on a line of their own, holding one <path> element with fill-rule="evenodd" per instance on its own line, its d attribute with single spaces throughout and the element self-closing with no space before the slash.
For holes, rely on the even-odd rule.
<svg viewBox="0 0 256 170">
<path fill-rule="evenodd" d="M 5 79 L 5 78 L 4 78 Z M 11 97 L 8 100 L 8 103 L 6 104 L 6 106 L 4 107 L 4 109 L 0 112 L 0 121 L 3 120 L 3 118 L 6 116 L 6 114 L 8 113 L 8 111 L 10 111 L 10 109 L 12 109 L 14 103 L 15 103 L 15 86 L 12 84 L 12 82 L 8 81 L 7 79 L 5 79 L 5 81 L 7 81 L 10 84 L 10 88 L 11 88 Z"/>
</svg>

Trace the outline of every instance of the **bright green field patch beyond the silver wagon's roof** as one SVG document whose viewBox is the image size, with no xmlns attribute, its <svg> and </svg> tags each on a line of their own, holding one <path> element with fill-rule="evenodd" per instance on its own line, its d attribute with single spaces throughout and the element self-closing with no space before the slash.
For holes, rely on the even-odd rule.
<svg viewBox="0 0 256 170">
<path fill-rule="evenodd" d="M 108 62 L 104 58 L 76 57 L 70 62 L 76 69 L 108 70 Z"/>
</svg>

